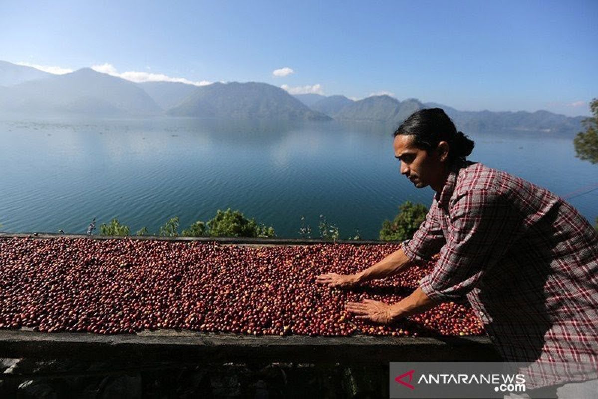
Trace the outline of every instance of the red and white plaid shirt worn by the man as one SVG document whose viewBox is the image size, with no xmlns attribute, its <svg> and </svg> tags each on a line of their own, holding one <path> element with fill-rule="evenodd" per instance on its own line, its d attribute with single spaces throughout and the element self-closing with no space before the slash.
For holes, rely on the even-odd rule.
<svg viewBox="0 0 598 399">
<path fill-rule="evenodd" d="M 457 165 L 404 252 L 438 302 L 467 296 L 528 388 L 596 378 L 598 234 L 560 197 L 481 163 Z"/>
</svg>

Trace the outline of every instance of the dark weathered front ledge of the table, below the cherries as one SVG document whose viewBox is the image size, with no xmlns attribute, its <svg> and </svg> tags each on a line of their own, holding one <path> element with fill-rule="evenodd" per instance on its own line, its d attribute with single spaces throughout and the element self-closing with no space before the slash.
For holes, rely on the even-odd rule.
<svg viewBox="0 0 598 399">
<path fill-rule="evenodd" d="M 303 363 L 500 360 L 487 337 L 252 337 L 175 330 L 106 336 L 25 328 L 0 331 L 0 357 Z"/>
</svg>

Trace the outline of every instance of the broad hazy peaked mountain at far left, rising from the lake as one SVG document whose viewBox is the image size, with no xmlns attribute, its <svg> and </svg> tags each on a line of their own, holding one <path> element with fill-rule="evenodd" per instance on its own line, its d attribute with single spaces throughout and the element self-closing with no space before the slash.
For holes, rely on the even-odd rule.
<svg viewBox="0 0 598 399">
<path fill-rule="evenodd" d="M 162 109 L 135 83 L 90 68 L 5 87 L 3 111 L 19 114 L 155 115 Z"/>
</svg>

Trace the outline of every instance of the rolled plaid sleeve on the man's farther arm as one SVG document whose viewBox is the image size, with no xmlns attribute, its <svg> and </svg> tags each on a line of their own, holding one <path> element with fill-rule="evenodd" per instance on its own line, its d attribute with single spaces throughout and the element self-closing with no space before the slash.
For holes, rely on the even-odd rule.
<svg viewBox="0 0 598 399">
<path fill-rule="evenodd" d="M 427 262 L 442 248 L 445 240 L 438 218 L 440 218 L 440 212 L 438 212 L 438 203 L 434 199 L 426 215 L 426 220 L 419 226 L 411 240 L 403 242 L 403 252 L 410 260 Z"/>
</svg>

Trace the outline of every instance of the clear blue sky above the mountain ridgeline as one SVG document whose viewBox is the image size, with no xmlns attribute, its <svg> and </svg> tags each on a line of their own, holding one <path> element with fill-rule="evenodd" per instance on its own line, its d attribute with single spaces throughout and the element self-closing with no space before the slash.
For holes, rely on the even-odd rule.
<svg viewBox="0 0 598 399">
<path fill-rule="evenodd" d="M 2 60 L 131 80 L 262 81 L 566 115 L 588 115 L 598 97 L 596 0 L 0 0 L 0 33 Z M 293 72 L 273 74 L 282 68 Z"/>
</svg>

